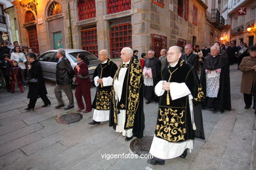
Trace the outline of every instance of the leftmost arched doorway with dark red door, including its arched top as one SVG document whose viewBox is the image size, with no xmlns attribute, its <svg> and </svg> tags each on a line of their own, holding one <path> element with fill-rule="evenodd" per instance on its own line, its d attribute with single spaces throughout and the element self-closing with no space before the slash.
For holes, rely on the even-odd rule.
<svg viewBox="0 0 256 170">
<path fill-rule="evenodd" d="M 25 16 L 25 25 L 28 31 L 28 42 L 30 48 L 32 48 L 33 52 L 39 54 L 39 45 L 38 45 L 38 37 L 37 37 L 37 26 L 35 23 L 35 16 L 33 12 L 28 10 Z"/>
</svg>

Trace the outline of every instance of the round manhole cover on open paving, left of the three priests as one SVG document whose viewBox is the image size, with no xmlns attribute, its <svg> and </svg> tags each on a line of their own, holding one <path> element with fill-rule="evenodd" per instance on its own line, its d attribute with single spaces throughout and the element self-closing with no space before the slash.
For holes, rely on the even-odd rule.
<svg viewBox="0 0 256 170">
<path fill-rule="evenodd" d="M 56 118 L 56 122 L 58 122 L 59 124 L 73 124 L 75 122 L 79 122 L 82 118 L 82 114 L 68 112 L 67 114 L 58 116 L 58 118 Z"/>
</svg>

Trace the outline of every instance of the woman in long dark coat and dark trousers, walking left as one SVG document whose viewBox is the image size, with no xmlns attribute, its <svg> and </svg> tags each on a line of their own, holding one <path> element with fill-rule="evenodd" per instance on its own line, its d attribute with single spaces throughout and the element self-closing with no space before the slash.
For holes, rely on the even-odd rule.
<svg viewBox="0 0 256 170">
<path fill-rule="evenodd" d="M 41 97 L 45 103 L 42 107 L 51 105 L 51 101 L 47 97 L 47 90 L 45 87 L 45 79 L 43 78 L 42 67 L 39 61 L 36 60 L 37 56 L 35 53 L 30 52 L 26 55 L 28 62 L 31 65 L 29 71 L 29 90 L 28 98 L 30 103 L 25 110 L 34 109 L 37 98 Z"/>
</svg>

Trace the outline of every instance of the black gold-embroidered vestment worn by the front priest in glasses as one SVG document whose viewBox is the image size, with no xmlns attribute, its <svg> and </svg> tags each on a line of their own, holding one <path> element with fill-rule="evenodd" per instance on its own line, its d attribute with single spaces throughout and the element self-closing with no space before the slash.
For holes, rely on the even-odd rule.
<svg viewBox="0 0 256 170">
<path fill-rule="evenodd" d="M 198 75 L 192 65 L 180 59 L 175 67 L 165 67 L 162 75 L 162 80 L 167 82 L 186 83 L 193 96 L 194 106 L 200 104 L 204 95 Z M 182 142 L 194 139 L 194 137 L 205 139 L 200 107 L 194 110 L 194 120 L 196 131 L 192 128 L 188 95 L 172 100 L 169 91 L 165 91 L 160 96 L 155 135 L 169 142 Z"/>
</svg>

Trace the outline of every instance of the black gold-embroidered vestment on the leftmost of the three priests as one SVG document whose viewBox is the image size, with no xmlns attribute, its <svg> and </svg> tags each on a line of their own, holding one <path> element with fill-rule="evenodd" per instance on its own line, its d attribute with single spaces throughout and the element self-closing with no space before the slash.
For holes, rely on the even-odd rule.
<svg viewBox="0 0 256 170">
<path fill-rule="evenodd" d="M 93 74 L 93 80 L 95 76 L 99 78 L 106 78 L 111 76 L 114 78 L 116 73 L 117 66 L 113 61 L 108 61 L 106 63 L 99 63 Z M 96 88 L 95 99 L 93 101 L 93 109 L 97 110 L 110 110 L 110 92 L 113 89 L 113 86 L 102 86 L 100 84 Z"/>
</svg>

